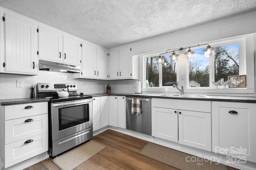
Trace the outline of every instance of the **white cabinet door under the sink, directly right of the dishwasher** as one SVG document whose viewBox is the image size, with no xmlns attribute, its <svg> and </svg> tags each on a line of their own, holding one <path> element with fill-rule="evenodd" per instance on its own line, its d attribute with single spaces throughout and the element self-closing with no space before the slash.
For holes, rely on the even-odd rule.
<svg viewBox="0 0 256 170">
<path fill-rule="evenodd" d="M 152 136 L 178 142 L 177 109 L 152 107 Z"/>
</svg>

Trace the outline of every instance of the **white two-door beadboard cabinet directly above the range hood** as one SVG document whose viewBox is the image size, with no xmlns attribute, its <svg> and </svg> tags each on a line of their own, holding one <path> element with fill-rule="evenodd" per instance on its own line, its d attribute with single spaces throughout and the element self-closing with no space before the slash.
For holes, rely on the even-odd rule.
<svg viewBox="0 0 256 170">
<path fill-rule="evenodd" d="M 38 49 L 39 59 L 74 65 L 82 62 L 82 41 L 52 27 L 38 27 Z"/>
</svg>

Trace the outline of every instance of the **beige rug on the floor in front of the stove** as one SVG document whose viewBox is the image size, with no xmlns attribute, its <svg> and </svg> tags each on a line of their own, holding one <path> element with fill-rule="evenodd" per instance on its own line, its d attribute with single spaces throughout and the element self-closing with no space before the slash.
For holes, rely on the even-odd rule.
<svg viewBox="0 0 256 170">
<path fill-rule="evenodd" d="M 94 141 L 86 142 L 52 160 L 62 170 L 72 170 L 106 147 Z"/>
</svg>

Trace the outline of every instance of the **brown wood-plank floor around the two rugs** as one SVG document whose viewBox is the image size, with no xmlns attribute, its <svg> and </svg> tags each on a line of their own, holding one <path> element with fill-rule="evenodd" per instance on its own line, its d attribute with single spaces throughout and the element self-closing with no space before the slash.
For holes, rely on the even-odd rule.
<svg viewBox="0 0 256 170">
<path fill-rule="evenodd" d="M 148 143 L 147 141 L 112 130 L 104 131 L 94 136 L 92 140 L 106 148 L 76 167 L 75 170 L 177 170 L 177 168 L 140 154 L 140 150 Z M 59 170 L 59 168 L 51 158 L 48 158 L 25 170 Z M 228 167 L 228 170 L 236 169 Z"/>
</svg>

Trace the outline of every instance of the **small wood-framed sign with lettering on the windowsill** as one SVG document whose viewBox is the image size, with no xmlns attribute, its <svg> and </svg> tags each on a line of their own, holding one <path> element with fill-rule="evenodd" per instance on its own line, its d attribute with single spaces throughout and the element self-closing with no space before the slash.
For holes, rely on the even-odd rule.
<svg viewBox="0 0 256 170">
<path fill-rule="evenodd" d="M 246 88 L 246 75 L 228 76 L 230 84 L 228 88 Z"/>
</svg>

